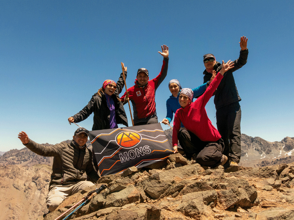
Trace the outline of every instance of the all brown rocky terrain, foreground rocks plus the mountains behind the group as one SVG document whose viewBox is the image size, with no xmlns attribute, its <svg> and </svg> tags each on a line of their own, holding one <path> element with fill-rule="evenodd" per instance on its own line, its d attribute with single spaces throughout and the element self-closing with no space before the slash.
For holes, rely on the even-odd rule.
<svg viewBox="0 0 294 220">
<path fill-rule="evenodd" d="M 242 134 L 241 144 L 239 167 L 208 169 L 172 154 L 101 177 L 47 215 L 53 158 L 10 150 L 0 156 L 0 220 L 56 219 L 101 185 L 108 188 L 68 219 L 293 220 L 294 138 L 268 142 Z"/>
</svg>

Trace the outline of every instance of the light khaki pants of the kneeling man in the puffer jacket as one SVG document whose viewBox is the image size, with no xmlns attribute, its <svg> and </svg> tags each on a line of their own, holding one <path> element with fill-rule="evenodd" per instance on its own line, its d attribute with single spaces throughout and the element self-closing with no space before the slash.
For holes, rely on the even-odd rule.
<svg viewBox="0 0 294 220">
<path fill-rule="evenodd" d="M 49 209 L 49 211 L 54 211 L 61 204 L 61 202 L 66 199 L 66 197 L 93 185 L 95 184 L 90 181 L 80 181 L 74 185 L 53 186 L 46 197 L 47 209 Z"/>
</svg>

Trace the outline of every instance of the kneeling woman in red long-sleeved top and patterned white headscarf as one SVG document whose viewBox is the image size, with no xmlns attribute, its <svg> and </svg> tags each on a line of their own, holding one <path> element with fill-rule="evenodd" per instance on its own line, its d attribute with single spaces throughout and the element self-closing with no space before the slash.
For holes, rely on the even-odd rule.
<svg viewBox="0 0 294 220">
<path fill-rule="evenodd" d="M 206 91 L 196 101 L 191 102 L 193 92 L 191 89 L 182 89 L 179 96 L 181 109 L 178 109 L 173 121 L 173 148 L 178 151 L 178 132 L 181 122 L 188 130 L 187 144 L 182 146 L 188 159 L 197 155 L 196 162 L 200 165 L 215 167 L 224 165 L 228 158 L 223 155 L 224 143 L 218 130 L 209 120 L 205 106 L 213 92 L 216 90 L 226 71 L 233 68 L 232 61 L 222 64 L 220 72 L 216 75 Z M 216 72 L 213 71 L 215 75 Z M 195 158 L 195 156 L 193 156 Z"/>
</svg>

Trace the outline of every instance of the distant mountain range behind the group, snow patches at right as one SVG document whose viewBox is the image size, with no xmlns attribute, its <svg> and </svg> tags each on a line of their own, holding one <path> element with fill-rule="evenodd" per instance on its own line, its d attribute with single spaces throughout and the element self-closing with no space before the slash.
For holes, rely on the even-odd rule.
<svg viewBox="0 0 294 220">
<path fill-rule="evenodd" d="M 164 133 L 169 142 L 172 143 L 172 129 Z M 70 142 L 67 140 L 66 142 Z M 51 144 L 44 144 L 51 145 Z M 87 146 L 92 149 L 88 140 Z M 285 137 L 281 141 L 269 142 L 260 137 L 241 135 L 241 160 L 240 165 L 246 167 L 263 167 L 281 163 L 294 162 L 294 137 Z M 27 148 L 21 150 L 13 149 L 0 155 L 0 166 L 19 164 L 21 166 L 32 166 L 35 164 L 52 165 L 53 158 L 42 157 L 31 152 Z"/>
</svg>

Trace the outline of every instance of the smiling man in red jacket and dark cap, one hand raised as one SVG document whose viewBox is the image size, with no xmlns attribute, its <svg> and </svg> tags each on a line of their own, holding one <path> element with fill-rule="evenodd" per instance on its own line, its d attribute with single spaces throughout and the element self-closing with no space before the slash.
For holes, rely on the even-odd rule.
<svg viewBox="0 0 294 220">
<path fill-rule="evenodd" d="M 168 47 L 161 46 L 163 56 L 163 65 L 157 77 L 149 80 L 148 70 L 145 68 L 138 69 L 135 85 L 128 88 L 128 96 L 123 94 L 121 101 L 127 103 L 129 99 L 133 105 L 134 125 L 145 125 L 158 123 L 156 115 L 155 92 L 163 79 L 166 77 L 168 69 Z"/>
</svg>

